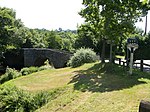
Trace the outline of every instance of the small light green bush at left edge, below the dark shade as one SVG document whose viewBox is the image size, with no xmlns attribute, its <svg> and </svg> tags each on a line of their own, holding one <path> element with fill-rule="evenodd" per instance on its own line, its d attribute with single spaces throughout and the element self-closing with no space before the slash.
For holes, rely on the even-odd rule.
<svg viewBox="0 0 150 112">
<path fill-rule="evenodd" d="M 15 69 L 7 67 L 6 73 L 0 77 L 0 83 L 2 84 L 8 80 L 15 79 L 15 78 L 20 77 L 20 76 L 21 76 L 20 72 L 18 72 Z"/>
</svg>

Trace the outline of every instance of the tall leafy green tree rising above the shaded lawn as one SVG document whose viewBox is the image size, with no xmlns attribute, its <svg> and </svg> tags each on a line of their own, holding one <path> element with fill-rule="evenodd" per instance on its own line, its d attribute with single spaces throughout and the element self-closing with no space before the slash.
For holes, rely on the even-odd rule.
<svg viewBox="0 0 150 112">
<path fill-rule="evenodd" d="M 106 40 L 118 44 L 120 37 L 134 31 L 134 24 L 142 14 L 145 4 L 139 0 L 83 0 L 84 9 L 79 13 L 85 22 L 103 40 L 102 62 L 104 62 Z"/>
</svg>

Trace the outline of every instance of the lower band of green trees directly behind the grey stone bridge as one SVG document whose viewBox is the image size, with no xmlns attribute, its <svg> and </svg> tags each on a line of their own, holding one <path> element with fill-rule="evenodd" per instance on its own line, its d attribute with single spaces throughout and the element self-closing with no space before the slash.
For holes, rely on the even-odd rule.
<svg viewBox="0 0 150 112">
<path fill-rule="evenodd" d="M 21 33 L 21 31 L 24 31 Z M 20 30 L 26 40 L 23 42 L 24 48 L 51 48 L 66 51 L 73 50 L 73 44 L 76 34 L 70 31 L 49 31 L 45 29 L 28 29 Z"/>
</svg>

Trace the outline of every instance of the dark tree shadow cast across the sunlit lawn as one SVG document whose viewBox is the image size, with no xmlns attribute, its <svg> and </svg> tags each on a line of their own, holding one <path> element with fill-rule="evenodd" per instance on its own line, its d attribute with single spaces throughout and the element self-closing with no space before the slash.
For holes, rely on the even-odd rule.
<svg viewBox="0 0 150 112">
<path fill-rule="evenodd" d="M 127 71 L 119 65 L 115 64 L 95 64 L 87 70 L 76 71 L 72 80 L 74 89 L 90 92 L 109 92 L 122 90 L 133 87 L 135 85 L 147 83 L 139 80 L 141 78 L 150 79 L 150 74 L 146 72 L 134 71 L 133 75 L 128 75 Z"/>
</svg>

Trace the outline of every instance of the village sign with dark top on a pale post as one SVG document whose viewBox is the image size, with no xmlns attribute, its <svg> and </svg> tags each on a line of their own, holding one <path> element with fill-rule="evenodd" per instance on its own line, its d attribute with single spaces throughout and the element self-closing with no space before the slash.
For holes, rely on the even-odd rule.
<svg viewBox="0 0 150 112">
<path fill-rule="evenodd" d="M 127 40 L 127 48 L 130 50 L 130 70 L 129 73 L 132 74 L 132 68 L 133 68 L 133 53 L 138 48 L 138 42 L 135 38 L 129 38 Z"/>
</svg>

